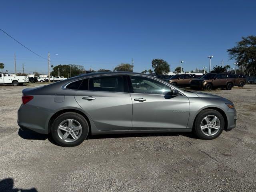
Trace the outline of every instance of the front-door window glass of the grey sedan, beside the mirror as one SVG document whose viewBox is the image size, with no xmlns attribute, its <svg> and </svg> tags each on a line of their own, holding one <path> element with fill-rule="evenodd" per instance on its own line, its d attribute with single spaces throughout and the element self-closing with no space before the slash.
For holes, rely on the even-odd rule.
<svg viewBox="0 0 256 192">
<path fill-rule="evenodd" d="M 166 84 L 151 78 L 130 76 L 130 80 L 132 82 L 131 92 L 133 93 L 165 95 L 171 91 L 171 88 Z"/>
</svg>

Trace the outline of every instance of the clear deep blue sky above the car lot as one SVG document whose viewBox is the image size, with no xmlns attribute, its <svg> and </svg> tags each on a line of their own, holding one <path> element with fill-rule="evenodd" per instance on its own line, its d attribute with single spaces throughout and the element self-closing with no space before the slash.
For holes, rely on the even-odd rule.
<svg viewBox="0 0 256 192">
<path fill-rule="evenodd" d="M 256 35 L 254 0 L 216 1 L 56 1 L 0 0 L 0 28 L 52 64 L 79 64 L 86 70 L 111 69 L 134 58 L 134 71 L 151 68 L 154 58 L 171 70 L 228 61 L 226 50 L 242 36 Z M 0 31 L 0 62 L 5 69 L 45 72 L 47 60 Z M 58 55 L 55 55 L 58 54 Z"/>
</svg>

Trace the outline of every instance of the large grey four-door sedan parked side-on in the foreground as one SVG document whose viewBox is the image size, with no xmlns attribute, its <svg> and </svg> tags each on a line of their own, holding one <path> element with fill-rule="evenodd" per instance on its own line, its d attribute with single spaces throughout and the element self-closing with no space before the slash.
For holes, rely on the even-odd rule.
<svg viewBox="0 0 256 192">
<path fill-rule="evenodd" d="M 194 132 L 214 139 L 236 126 L 234 104 L 131 72 L 84 74 L 22 91 L 18 125 L 77 146 L 88 134 Z"/>
</svg>

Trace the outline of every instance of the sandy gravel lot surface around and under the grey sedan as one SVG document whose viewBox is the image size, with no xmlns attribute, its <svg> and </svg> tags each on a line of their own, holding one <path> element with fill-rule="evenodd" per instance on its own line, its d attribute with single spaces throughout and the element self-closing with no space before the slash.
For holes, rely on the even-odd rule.
<svg viewBox="0 0 256 192">
<path fill-rule="evenodd" d="M 19 129 L 26 87 L 0 86 L 0 191 L 256 191 L 256 85 L 212 92 L 238 112 L 237 127 L 215 140 L 107 135 L 74 148 Z"/>
</svg>

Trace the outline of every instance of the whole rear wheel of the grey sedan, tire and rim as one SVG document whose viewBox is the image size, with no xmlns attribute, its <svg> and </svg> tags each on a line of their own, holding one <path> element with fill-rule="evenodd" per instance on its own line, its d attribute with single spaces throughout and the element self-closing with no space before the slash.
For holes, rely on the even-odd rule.
<svg viewBox="0 0 256 192">
<path fill-rule="evenodd" d="M 67 112 L 54 120 L 51 133 L 54 141 L 60 146 L 73 147 L 81 144 L 88 132 L 88 123 L 82 115 Z"/>
</svg>

